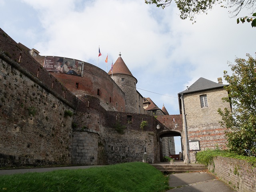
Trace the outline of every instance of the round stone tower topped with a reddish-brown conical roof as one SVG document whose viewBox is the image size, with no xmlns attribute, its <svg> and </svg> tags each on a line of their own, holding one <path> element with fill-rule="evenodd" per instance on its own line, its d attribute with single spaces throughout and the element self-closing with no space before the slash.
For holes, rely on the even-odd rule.
<svg viewBox="0 0 256 192">
<path fill-rule="evenodd" d="M 125 94 L 125 112 L 136 113 L 136 84 L 138 81 L 124 63 L 121 54 L 108 74 Z"/>
</svg>

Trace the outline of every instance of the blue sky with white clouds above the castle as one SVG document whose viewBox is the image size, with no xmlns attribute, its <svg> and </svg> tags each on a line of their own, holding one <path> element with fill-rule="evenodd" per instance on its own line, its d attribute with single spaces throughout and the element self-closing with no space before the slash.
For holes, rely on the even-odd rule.
<svg viewBox="0 0 256 192">
<path fill-rule="evenodd" d="M 169 114 L 180 114 L 178 93 L 198 78 L 214 82 L 228 61 L 255 56 L 256 28 L 236 24 L 242 10 L 215 6 L 181 20 L 174 1 L 162 9 L 144 0 L 0 0 L 0 28 L 42 56 L 63 56 L 108 71 L 119 54 L 138 80 L 138 92 Z M 98 57 L 98 48 L 102 56 Z M 177 151 L 177 150 L 176 150 Z"/>
</svg>

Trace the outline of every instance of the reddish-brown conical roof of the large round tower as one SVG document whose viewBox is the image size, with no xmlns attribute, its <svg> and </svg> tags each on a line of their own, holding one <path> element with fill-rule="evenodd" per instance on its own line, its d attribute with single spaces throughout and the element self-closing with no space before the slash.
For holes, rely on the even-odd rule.
<svg viewBox="0 0 256 192">
<path fill-rule="evenodd" d="M 124 60 L 122 59 L 121 54 L 119 54 L 119 56 L 120 57 L 118 57 L 116 62 L 113 64 L 113 69 L 112 69 L 113 74 L 125 74 L 125 75 L 129 75 L 129 76 L 134 77 L 132 75 L 132 73 L 130 72 L 130 70 L 128 69 L 128 67 L 126 66 L 126 64 L 124 63 Z M 112 75 L 111 69 L 109 70 L 108 74 Z M 138 82 L 138 80 L 136 79 L 136 83 L 137 82 Z"/>
</svg>

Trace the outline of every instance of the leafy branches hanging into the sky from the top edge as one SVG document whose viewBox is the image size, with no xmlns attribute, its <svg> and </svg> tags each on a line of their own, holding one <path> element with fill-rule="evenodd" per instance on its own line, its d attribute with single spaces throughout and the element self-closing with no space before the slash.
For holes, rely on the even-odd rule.
<svg viewBox="0 0 256 192">
<path fill-rule="evenodd" d="M 156 4 L 157 7 L 161 7 L 163 9 L 166 6 L 169 6 L 171 2 L 172 0 L 145 0 L 146 4 Z M 232 8 L 233 10 L 229 11 L 229 13 L 232 14 L 233 17 L 236 17 L 242 8 L 246 8 L 248 10 L 252 8 L 252 10 L 254 10 L 254 4 L 256 4 L 256 0 L 175 0 L 175 2 L 180 10 L 180 18 L 189 18 L 192 22 L 196 22 L 196 14 L 207 14 L 207 11 L 211 10 L 216 4 L 219 4 L 224 8 Z M 239 19 L 242 23 L 247 20 L 247 22 L 252 22 L 252 27 L 255 27 L 256 18 L 253 19 L 254 14 L 249 18 L 249 20 L 247 20 L 248 17 L 246 16 L 238 18 L 237 22 L 239 23 Z"/>
</svg>

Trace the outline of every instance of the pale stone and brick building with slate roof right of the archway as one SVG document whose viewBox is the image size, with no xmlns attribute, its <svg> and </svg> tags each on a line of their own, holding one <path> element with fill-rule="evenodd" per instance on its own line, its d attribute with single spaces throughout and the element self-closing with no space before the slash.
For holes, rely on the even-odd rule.
<svg viewBox="0 0 256 192">
<path fill-rule="evenodd" d="M 199 78 L 186 90 L 178 93 L 180 114 L 184 121 L 184 134 L 188 143 L 184 146 L 188 151 L 190 162 L 196 162 L 195 154 L 207 148 L 226 148 L 225 128 L 219 122 L 222 120 L 218 108 L 230 108 L 230 104 L 222 98 L 228 93 L 224 89 L 222 79 L 218 83 L 205 78 Z M 186 140 L 185 140 L 186 142 Z M 188 146 L 188 147 L 187 147 Z"/>
</svg>

